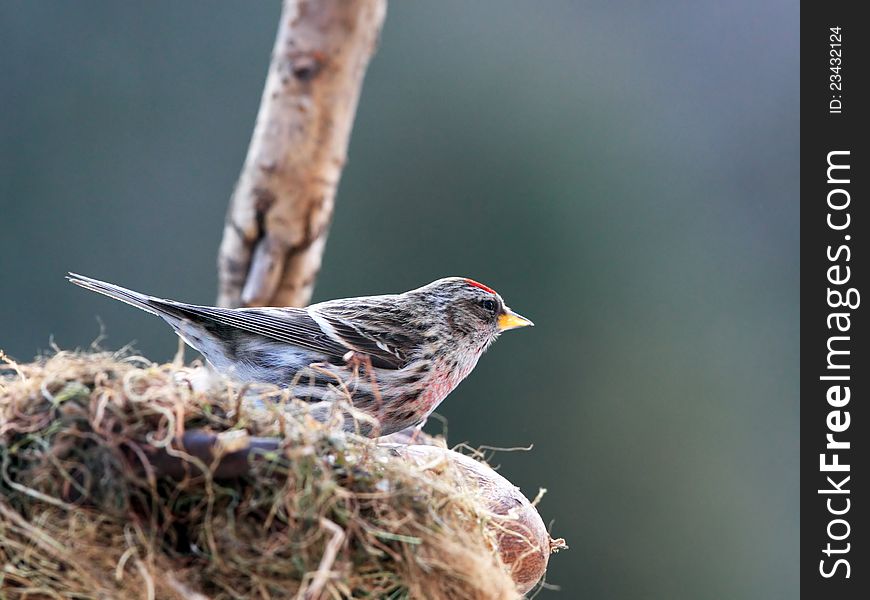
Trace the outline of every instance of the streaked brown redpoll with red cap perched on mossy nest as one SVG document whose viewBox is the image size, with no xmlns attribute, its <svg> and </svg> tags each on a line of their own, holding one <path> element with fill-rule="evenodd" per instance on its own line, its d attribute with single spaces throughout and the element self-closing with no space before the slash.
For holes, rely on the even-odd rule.
<svg viewBox="0 0 870 600">
<path fill-rule="evenodd" d="M 345 414 L 343 427 L 368 437 L 421 428 L 502 332 L 533 325 L 467 277 L 305 308 L 200 306 L 67 279 L 161 317 L 219 373 L 289 389 L 316 407 L 315 418 L 350 396 L 371 419 Z"/>
</svg>

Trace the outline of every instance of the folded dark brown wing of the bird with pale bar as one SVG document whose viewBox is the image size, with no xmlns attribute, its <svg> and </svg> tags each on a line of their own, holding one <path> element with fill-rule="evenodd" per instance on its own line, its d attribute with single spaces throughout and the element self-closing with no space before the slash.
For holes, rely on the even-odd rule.
<svg viewBox="0 0 870 600">
<path fill-rule="evenodd" d="M 152 303 L 161 303 L 152 300 Z M 336 318 L 329 314 L 302 308 L 218 308 L 194 306 L 165 301 L 167 308 L 185 313 L 185 317 L 200 322 L 208 328 L 208 322 L 262 336 L 326 355 L 331 361 L 341 362 L 354 351 L 364 354 L 372 366 L 383 369 L 400 369 L 406 364 L 405 357 L 396 348 L 381 341 L 379 332 Z M 214 332 L 221 336 L 219 332 Z M 230 337 L 225 333 L 222 337 Z"/>
</svg>

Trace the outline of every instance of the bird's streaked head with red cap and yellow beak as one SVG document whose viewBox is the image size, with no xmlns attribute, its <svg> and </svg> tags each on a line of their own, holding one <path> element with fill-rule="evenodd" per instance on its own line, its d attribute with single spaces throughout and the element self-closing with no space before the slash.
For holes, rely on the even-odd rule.
<svg viewBox="0 0 870 600">
<path fill-rule="evenodd" d="M 492 288 L 465 277 L 446 277 L 411 292 L 443 321 L 456 341 L 482 352 L 501 332 L 534 325 L 512 311 Z"/>
</svg>

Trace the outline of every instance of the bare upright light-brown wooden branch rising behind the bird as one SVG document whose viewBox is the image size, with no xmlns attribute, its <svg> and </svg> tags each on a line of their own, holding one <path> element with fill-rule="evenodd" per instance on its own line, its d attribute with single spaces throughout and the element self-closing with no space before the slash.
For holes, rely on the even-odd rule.
<svg viewBox="0 0 870 600">
<path fill-rule="evenodd" d="M 386 0 L 284 0 L 218 256 L 221 306 L 303 306 Z"/>
</svg>

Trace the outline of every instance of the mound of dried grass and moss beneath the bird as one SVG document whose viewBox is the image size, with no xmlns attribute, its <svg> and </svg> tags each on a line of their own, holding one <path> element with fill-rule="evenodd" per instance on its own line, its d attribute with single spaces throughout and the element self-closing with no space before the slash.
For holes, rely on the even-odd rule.
<svg viewBox="0 0 870 600">
<path fill-rule="evenodd" d="M 201 372 L 3 361 L 0 597 L 516 598 L 564 547 L 443 440 L 345 434 Z"/>
</svg>

